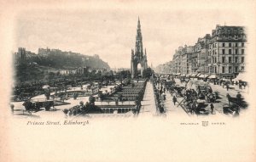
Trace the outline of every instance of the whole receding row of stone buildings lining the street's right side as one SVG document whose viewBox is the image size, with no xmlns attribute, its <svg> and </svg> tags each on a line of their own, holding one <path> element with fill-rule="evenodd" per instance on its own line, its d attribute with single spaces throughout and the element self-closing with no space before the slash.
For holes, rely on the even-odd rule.
<svg viewBox="0 0 256 162">
<path fill-rule="evenodd" d="M 245 71 L 247 36 L 243 26 L 217 25 L 212 36 L 207 34 L 194 46 L 178 47 L 168 73 L 174 75 L 212 75 L 233 79 Z"/>
</svg>

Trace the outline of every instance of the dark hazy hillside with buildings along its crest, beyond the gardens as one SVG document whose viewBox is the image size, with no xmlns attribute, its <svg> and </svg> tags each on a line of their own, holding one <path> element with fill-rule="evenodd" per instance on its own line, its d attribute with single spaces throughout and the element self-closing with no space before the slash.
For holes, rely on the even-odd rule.
<svg viewBox="0 0 256 162">
<path fill-rule="evenodd" d="M 108 63 L 98 55 L 50 50 L 47 53 L 32 54 L 25 60 L 16 59 L 15 78 L 17 82 L 45 81 L 59 77 L 60 70 L 75 70 L 79 67 L 110 70 Z"/>
</svg>

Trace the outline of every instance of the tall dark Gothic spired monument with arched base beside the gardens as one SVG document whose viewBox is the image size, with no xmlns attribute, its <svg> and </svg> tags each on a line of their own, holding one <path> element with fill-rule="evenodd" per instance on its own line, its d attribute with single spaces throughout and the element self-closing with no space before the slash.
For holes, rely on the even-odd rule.
<svg viewBox="0 0 256 162">
<path fill-rule="evenodd" d="M 131 49 L 131 78 L 136 77 L 137 74 L 137 64 L 141 64 L 141 75 L 143 75 L 143 70 L 148 68 L 147 63 L 147 53 L 145 48 L 145 54 L 143 54 L 143 35 L 141 31 L 140 18 L 137 21 L 137 36 L 135 44 L 135 52 Z"/>
</svg>

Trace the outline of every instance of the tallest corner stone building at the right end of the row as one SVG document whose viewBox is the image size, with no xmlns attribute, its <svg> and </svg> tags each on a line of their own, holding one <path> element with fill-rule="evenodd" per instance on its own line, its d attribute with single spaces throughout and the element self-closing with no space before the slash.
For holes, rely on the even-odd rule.
<svg viewBox="0 0 256 162">
<path fill-rule="evenodd" d="M 244 71 L 246 42 L 243 26 L 217 25 L 209 42 L 208 74 L 232 79 Z"/>
</svg>

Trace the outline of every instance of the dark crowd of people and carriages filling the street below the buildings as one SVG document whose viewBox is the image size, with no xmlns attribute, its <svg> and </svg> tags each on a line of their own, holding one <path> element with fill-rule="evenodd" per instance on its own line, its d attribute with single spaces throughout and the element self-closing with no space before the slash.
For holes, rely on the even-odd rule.
<svg viewBox="0 0 256 162">
<path fill-rule="evenodd" d="M 157 101 L 156 103 L 160 103 L 159 108 L 160 109 L 164 109 L 164 101 L 166 100 L 166 92 L 170 92 L 172 95 L 172 102 L 174 105 L 177 104 L 177 94 L 179 94 L 179 96 L 183 97 L 182 100 L 182 104 L 183 106 L 189 110 L 190 114 L 200 114 L 201 111 L 201 104 L 197 103 L 198 99 L 206 99 L 207 103 L 209 103 L 209 112 L 211 114 L 213 114 L 213 110 L 214 110 L 214 103 L 216 101 L 216 99 L 218 98 L 218 95 L 212 92 L 212 89 L 210 89 L 211 91 L 202 91 L 205 92 L 204 94 L 201 94 L 201 91 L 195 92 L 195 89 L 190 89 L 187 87 L 188 82 L 190 81 L 190 78 L 178 78 L 172 75 L 167 76 L 166 78 L 164 78 L 163 80 L 161 80 L 161 75 L 155 76 L 154 78 L 154 87 L 156 90 L 156 99 L 159 98 L 159 101 Z M 181 83 L 183 83 L 184 89 L 181 91 L 180 87 L 177 87 L 177 90 L 180 90 L 181 92 L 178 92 L 177 90 L 175 90 L 175 79 L 177 78 L 180 80 Z M 168 81 L 166 81 L 168 80 Z M 170 81 L 172 82 L 172 84 L 170 84 Z M 207 80 L 203 80 L 207 83 L 207 85 L 209 85 L 209 81 Z M 168 85 L 169 83 L 169 85 Z M 217 82 L 216 82 L 217 84 Z M 227 91 L 230 90 L 230 85 L 238 85 L 239 88 L 241 89 L 242 87 L 245 88 L 247 86 L 246 82 L 234 82 L 234 81 L 219 81 L 219 85 L 221 85 L 222 87 L 226 88 Z M 175 92 L 174 92 L 175 91 Z M 158 97 L 159 96 L 159 97 Z M 245 107 L 245 102 L 243 101 L 243 98 L 241 97 L 241 92 L 237 92 L 236 98 L 233 98 L 233 100 L 231 99 L 230 95 L 227 95 L 227 98 L 229 100 L 229 103 L 233 103 L 229 105 L 229 109 L 230 111 L 234 114 L 236 113 L 236 115 L 239 114 L 239 108 L 240 107 Z M 233 109 L 233 105 L 234 103 L 236 104 L 236 109 Z M 181 104 L 181 103 L 179 103 Z M 162 112 L 165 112 L 165 109 L 162 110 Z M 161 111 L 160 111 L 161 113 Z"/>
</svg>

